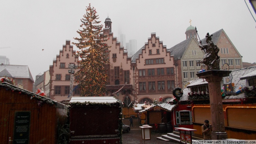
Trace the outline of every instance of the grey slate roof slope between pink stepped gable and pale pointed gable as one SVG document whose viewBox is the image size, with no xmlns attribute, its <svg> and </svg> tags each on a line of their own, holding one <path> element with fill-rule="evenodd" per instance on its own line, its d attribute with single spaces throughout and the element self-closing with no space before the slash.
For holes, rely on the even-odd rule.
<svg viewBox="0 0 256 144">
<path fill-rule="evenodd" d="M 179 44 L 176 44 L 175 46 L 173 46 L 172 48 L 169 49 L 171 54 L 174 55 L 174 59 L 178 59 L 183 56 L 183 54 L 186 51 L 188 44 L 190 43 L 192 38 L 193 38 L 193 36 L 180 42 Z"/>
</svg>

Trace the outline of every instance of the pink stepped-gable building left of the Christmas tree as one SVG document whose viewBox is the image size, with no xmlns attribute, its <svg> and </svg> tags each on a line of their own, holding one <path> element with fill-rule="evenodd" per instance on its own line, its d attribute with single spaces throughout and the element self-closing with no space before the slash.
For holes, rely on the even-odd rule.
<svg viewBox="0 0 256 144">
<path fill-rule="evenodd" d="M 70 92 L 70 74 L 68 73 L 68 65 L 76 64 L 78 57 L 75 56 L 76 51 L 73 50 L 73 45 L 70 45 L 70 40 L 66 40 L 66 45 L 62 46 L 60 54 L 53 60 L 53 65 L 50 66 L 50 99 L 56 101 L 66 100 Z M 77 70 L 76 70 L 77 71 Z M 77 84 L 74 84 L 73 88 Z M 79 88 L 73 92 L 73 96 L 80 96 Z"/>
</svg>

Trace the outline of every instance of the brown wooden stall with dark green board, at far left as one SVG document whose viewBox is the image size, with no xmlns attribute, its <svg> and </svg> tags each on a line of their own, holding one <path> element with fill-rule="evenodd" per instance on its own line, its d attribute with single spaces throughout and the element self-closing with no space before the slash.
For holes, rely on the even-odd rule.
<svg viewBox="0 0 256 144">
<path fill-rule="evenodd" d="M 44 96 L 1 83 L 0 143 L 57 144 L 66 108 Z"/>
</svg>

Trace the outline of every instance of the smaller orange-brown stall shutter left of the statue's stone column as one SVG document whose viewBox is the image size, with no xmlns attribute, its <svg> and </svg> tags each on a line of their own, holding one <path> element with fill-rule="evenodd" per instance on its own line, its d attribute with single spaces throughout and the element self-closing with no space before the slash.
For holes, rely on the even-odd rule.
<svg viewBox="0 0 256 144">
<path fill-rule="evenodd" d="M 204 123 L 204 120 L 209 120 L 209 123 L 212 124 L 212 115 L 210 108 L 194 108 L 194 118 L 196 123 Z"/>
</svg>

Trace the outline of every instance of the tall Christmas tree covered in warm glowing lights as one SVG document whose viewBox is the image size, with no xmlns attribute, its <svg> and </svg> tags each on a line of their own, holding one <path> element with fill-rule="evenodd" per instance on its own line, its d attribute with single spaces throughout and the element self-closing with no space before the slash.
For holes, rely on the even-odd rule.
<svg viewBox="0 0 256 144">
<path fill-rule="evenodd" d="M 81 37 L 74 38 L 78 43 L 72 43 L 80 49 L 76 53 L 80 70 L 75 73 L 75 82 L 80 86 L 81 96 L 105 96 L 106 92 L 107 69 L 104 65 L 109 63 L 109 46 L 104 42 L 108 40 L 108 35 L 102 34 L 103 25 L 98 19 L 95 8 L 89 4 L 81 19 L 82 29 L 77 31 Z"/>
</svg>

